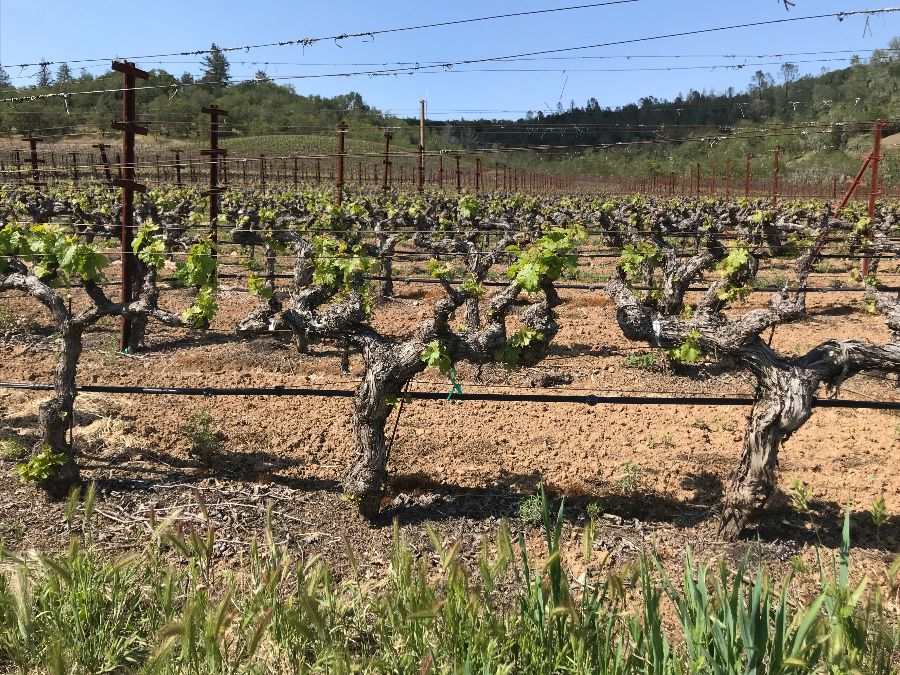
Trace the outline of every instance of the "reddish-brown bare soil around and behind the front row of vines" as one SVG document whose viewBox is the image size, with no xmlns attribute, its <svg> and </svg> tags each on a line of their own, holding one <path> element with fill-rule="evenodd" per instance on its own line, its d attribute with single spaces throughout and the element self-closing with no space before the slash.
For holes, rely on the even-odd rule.
<svg viewBox="0 0 900 675">
<path fill-rule="evenodd" d="M 437 289 L 397 284 L 396 290 L 398 298 L 376 307 L 375 323 L 402 334 L 429 313 Z M 189 301 L 187 291 L 163 295 L 172 308 Z M 652 350 L 622 336 L 606 295 L 561 295 L 562 328 L 549 358 L 512 373 L 460 364 L 463 391 L 752 394 L 749 376 L 727 364 L 675 372 L 660 357 L 655 365 L 628 367 L 629 356 Z M 766 300 L 755 294 L 736 311 Z M 881 317 L 863 311 L 858 294 L 812 294 L 808 304 L 807 319 L 775 331 L 772 344 L 782 353 L 804 352 L 830 338 L 889 340 Z M 358 383 L 359 357 L 342 375 L 335 346 L 318 344 L 301 355 L 279 336 L 236 338 L 235 321 L 253 306 L 246 293 L 226 286 L 219 305 L 208 332 L 151 326 L 146 351 L 134 356 L 115 352 L 115 322 L 99 324 L 85 336 L 79 383 L 347 389 Z M 0 297 L 0 381 L 50 382 L 55 346 L 39 305 L 16 294 Z M 868 373 L 848 381 L 840 396 L 896 401 L 898 386 L 896 376 Z M 443 392 L 450 384 L 426 371 L 412 388 Z M 0 438 L 32 443 L 45 397 L 0 389 Z M 445 540 L 459 540 L 463 557 L 477 557 L 482 537 L 507 518 L 539 552 L 540 528 L 519 517 L 519 506 L 542 482 L 554 499 L 565 497 L 564 536 L 571 539 L 576 572 L 592 502 L 602 511 L 595 547 L 613 564 L 655 545 L 673 568 L 690 546 L 700 560 L 736 559 L 753 549 L 779 576 L 804 565 L 815 569 L 817 547 L 826 559 L 835 555 L 844 504 L 852 513 L 856 579 L 867 575 L 884 583 L 900 550 L 896 412 L 817 409 L 781 452 L 778 494 L 742 541 L 724 543 L 715 536 L 717 507 L 739 457 L 744 407 L 407 403 L 391 450 L 383 517 L 371 525 L 341 497 L 340 480 L 352 459 L 348 398 L 82 394 L 76 406 L 78 460 L 98 490 L 95 541 L 112 552 L 143 545 L 154 519 L 177 513 L 186 530 L 211 523 L 216 556 L 232 564 L 261 536 L 269 504 L 276 541 L 301 558 L 321 555 L 338 571 L 347 569 L 350 546 L 366 576 L 381 575 L 388 564 L 394 520 L 410 545 L 433 561 L 426 524 Z M 221 439 L 205 460 L 191 455 L 183 427 L 200 410 L 210 413 Z M 0 541 L 13 550 L 64 546 L 70 534 L 64 505 L 21 485 L 13 465 L 0 459 Z M 812 490 L 808 514 L 789 497 L 795 479 Z M 882 496 L 893 519 L 878 532 L 869 509 Z M 810 572 L 797 583 L 811 584 L 816 576 Z"/>
</svg>

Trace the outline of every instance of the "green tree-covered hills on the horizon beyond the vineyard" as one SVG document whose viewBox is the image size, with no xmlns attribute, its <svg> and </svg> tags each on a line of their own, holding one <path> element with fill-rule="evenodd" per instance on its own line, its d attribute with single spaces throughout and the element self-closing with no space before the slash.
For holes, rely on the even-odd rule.
<svg viewBox="0 0 900 675">
<path fill-rule="evenodd" d="M 61 97 L 63 92 L 117 89 L 121 75 L 74 75 L 63 64 L 55 73 L 40 69 L 33 85 L 15 87 L 0 70 L 0 98 L 39 97 L 15 107 L 0 104 L 0 134 L 17 137 L 35 133 L 45 138 L 77 140 L 84 134 L 111 135 L 109 123 L 121 116 L 121 94 L 106 92 Z M 226 56 L 215 45 L 199 78 L 176 77 L 165 70 L 137 92 L 139 116 L 149 121 L 156 141 L 202 144 L 208 118 L 199 111 L 216 103 L 229 115 L 222 131 L 225 144 L 252 155 L 254 139 L 283 154 L 331 147 L 341 119 L 350 124 L 351 147 L 358 142 L 371 150 L 382 141 L 383 129 L 394 131 L 394 147 L 418 144 L 418 120 L 401 119 L 366 104 L 358 93 L 322 97 L 297 93 L 259 72 L 250 81 L 229 76 Z M 57 96 L 40 98 L 47 94 Z M 536 111 L 518 120 L 429 121 L 430 150 L 501 150 L 538 147 L 537 153 L 496 157 L 512 166 L 540 166 L 559 173 L 601 175 L 679 174 L 686 167 L 715 161 L 745 161 L 753 154 L 754 173 L 771 168 L 775 146 L 782 148 L 785 176 L 817 179 L 854 173 L 862 153 L 871 148 L 871 122 L 887 120 L 885 135 L 900 132 L 900 38 L 863 61 L 854 57 L 847 68 L 798 76 L 785 63 L 770 74 L 756 71 L 744 91 L 691 90 L 674 100 L 646 96 L 617 108 L 603 107 L 596 98 L 584 106 Z M 273 142 L 273 136 L 281 140 Z M 318 139 L 318 140 L 315 140 Z M 884 172 L 900 180 L 897 143 L 886 143 Z M 330 151 L 330 150 L 329 150 Z M 352 151 L 352 150 L 351 150 Z M 493 161 L 493 160 L 492 160 Z"/>
</svg>

